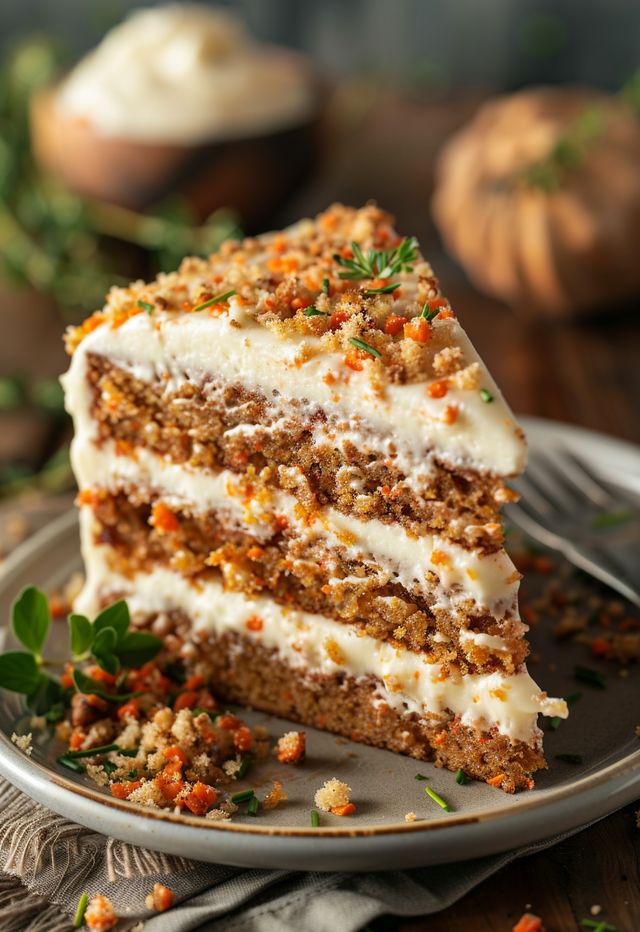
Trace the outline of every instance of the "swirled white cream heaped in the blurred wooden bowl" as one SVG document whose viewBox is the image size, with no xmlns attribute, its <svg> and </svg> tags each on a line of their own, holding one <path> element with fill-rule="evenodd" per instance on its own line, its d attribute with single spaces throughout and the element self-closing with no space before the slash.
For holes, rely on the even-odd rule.
<svg viewBox="0 0 640 932">
<path fill-rule="evenodd" d="M 103 136 L 195 144 L 305 119 L 314 92 L 301 58 L 258 45 L 223 10 L 138 10 L 63 82 L 58 106 Z"/>
</svg>

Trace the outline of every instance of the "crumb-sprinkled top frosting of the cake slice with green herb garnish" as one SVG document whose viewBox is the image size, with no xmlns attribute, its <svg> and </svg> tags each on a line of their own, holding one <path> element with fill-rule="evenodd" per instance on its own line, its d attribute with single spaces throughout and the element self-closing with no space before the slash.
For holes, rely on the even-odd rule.
<svg viewBox="0 0 640 932">
<path fill-rule="evenodd" d="M 435 453 L 505 476 L 525 465 L 522 432 L 417 243 L 373 206 L 337 205 L 113 289 L 70 332 L 70 350 L 80 344 L 79 356 L 108 355 L 168 386 L 214 377 L 306 400 L 416 461 Z"/>
</svg>

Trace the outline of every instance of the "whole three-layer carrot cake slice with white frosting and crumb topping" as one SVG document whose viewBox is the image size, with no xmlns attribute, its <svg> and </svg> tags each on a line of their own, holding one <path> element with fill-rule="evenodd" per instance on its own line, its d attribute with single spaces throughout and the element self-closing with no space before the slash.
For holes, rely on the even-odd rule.
<svg viewBox="0 0 640 932">
<path fill-rule="evenodd" d="M 505 478 L 526 444 L 376 206 L 114 288 L 67 335 L 87 581 L 227 700 L 504 789 L 543 767 Z"/>
</svg>

